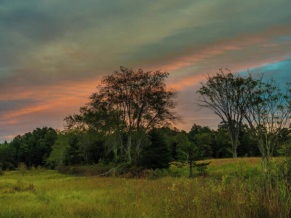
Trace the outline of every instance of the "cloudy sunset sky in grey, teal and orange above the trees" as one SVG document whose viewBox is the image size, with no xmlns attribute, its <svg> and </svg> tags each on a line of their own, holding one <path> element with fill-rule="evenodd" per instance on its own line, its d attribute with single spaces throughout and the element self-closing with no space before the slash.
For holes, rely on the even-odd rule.
<svg viewBox="0 0 291 218">
<path fill-rule="evenodd" d="M 0 0 L 0 142 L 68 114 L 119 66 L 169 72 L 178 128 L 216 128 L 196 106 L 206 74 L 291 82 L 291 0 Z"/>
</svg>

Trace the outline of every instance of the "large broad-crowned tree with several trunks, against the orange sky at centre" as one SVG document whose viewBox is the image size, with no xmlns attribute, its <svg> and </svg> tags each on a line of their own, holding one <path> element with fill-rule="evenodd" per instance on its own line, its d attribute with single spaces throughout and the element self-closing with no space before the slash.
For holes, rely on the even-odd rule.
<svg viewBox="0 0 291 218">
<path fill-rule="evenodd" d="M 81 108 L 80 116 L 87 126 L 97 126 L 98 131 L 105 129 L 107 135 L 115 133 L 113 149 L 118 147 L 131 161 L 134 133 L 146 133 L 152 127 L 179 120 L 173 111 L 176 92 L 166 89 L 167 77 L 167 72 L 120 67 L 102 78 L 97 92 Z M 126 133 L 126 145 L 123 143 L 123 133 Z M 146 134 L 136 136 L 135 149 L 139 156 Z"/>
</svg>

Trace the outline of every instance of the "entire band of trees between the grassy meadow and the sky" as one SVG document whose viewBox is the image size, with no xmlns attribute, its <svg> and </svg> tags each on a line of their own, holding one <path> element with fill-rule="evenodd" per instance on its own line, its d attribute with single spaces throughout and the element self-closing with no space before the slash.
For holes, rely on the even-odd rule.
<svg viewBox="0 0 291 218">
<path fill-rule="evenodd" d="M 102 78 L 78 114 L 65 117 L 64 130 L 37 128 L 0 145 L 3 170 L 28 167 L 130 162 L 162 169 L 176 161 L 191 168 L 206 158 L 290 155 L 291 89 L 283 91 L 263 75 L 207 75 L 197 104 L 221 118 L 217 130 L 174 127 L 177 92 L 166 88 L 167 72 L 120 67 Z"/>
</svg>

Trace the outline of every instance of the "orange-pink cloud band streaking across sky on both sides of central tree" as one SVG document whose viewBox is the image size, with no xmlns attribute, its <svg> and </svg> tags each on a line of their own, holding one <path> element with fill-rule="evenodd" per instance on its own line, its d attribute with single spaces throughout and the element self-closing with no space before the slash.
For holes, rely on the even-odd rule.
<svg viewBox="0 0 291 218">
<path fill-rule="evenodd" d="M 170 72 L 167 83 L 169 88 L 181 92 L 191 89 L 192 93 L 195 93 L 194 89 L 197 88 L 199 82 L 205 80 L 204 75 L 216 72 L 220 67 L 227 67 L 232 72 L 237 72 L 285 60 L 290 55 L 291 43 L 276 42 L 274 37 L 288 34 L 291 34 L 291 28 L 281 27 L 272 28 L 260 34 L 240 35 L 233 39 L 219 40 L 210 45 L 190 47 L 178 54 L 165 56 L 158 61 L 148 63 L 145 68 L 168 70 Z M 70 51 L 66 52 L 70 54 Z M 79 55 L 81 58 L 82 55 Z M 33 66 L 31 67 L 33 68 Z M 193 69 L 187 70 L 187 67 L 193 67 Z M 1 93 L 0 100 L 2 101 L 17 99 L 34 99 L 36 101 L 23 108 L 1 112 L 0 125 L 16 125 L 24 119 L 29 120 L 30 116 L 36 114 L 47 116 L 52 113 L 58 116 L 58 123 L 61 124 L 65 115 L 78 112 L 89 95 L 96 91 L 99 82 L 97 77 L 82 81 L 72 80 L 46 86 L 15 87 L 9 92 Z M 194 98 L 193 96 L 187 97 Z M 183 101 L 186 101 L 183 97 L 178 98 L 179 103 Z M 181 105 L 177 110 L 187 117 L 187 120 L 185 124 L 179 125 L 180 127 L 189 128 L 194 121 L 213 121 L 215 119 L 214 116 L 201 114 L 198 116 L 193 112 L 196 109 L 194 106 L 182 105 L 183 107 L 181 107 Z M 189 109 L 185 110 L 186 106 Z"/>
</svg>

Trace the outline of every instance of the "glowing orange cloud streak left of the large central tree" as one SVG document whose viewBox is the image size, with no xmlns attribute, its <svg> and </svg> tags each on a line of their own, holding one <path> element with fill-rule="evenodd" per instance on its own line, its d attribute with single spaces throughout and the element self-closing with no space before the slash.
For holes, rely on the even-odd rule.
<svg viewBox="0 0 291 218">
<path fill-rule="evenodd" d="M 0 100 L 34 99 L 35 104 L 25 108 L 8 111 L 1 116 L 0 124 L 17 123 L 19 117 L 36 112 L 49 112 L 58 109 L 60 111 L 75 111 L 86 102 L 89 95 L 96 91 L 98 80 L 70 81 L 64 84 L 50 85 L 46 87 L 33 87 L 25 91 L 25 88 L 18 88 L 14 92 L 4 93 Z"/>
</svg>

